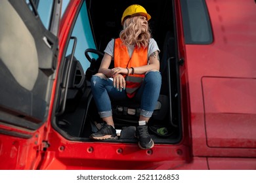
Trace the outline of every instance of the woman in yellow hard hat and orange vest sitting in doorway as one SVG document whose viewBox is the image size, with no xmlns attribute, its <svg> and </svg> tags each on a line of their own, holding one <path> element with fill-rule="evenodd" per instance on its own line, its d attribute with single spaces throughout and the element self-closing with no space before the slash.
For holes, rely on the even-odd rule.
<svg viewBox="0 0 256 183">
<path fill-rule="evenodd" d="M 139 124 L 136 137 L 139 147 L 154 146 L 148 134 L 148 120 L 152 116 L 161 87 L 159 48 L 151 38 L 148 20 L 151 16 L 140 5 L 131 5 L 123 12 L 123 30 L 119 39 L 112 39 L 98 73 L 91 78 L 91 87 L 100 118 L 106 122 L 90 138 L 96 140 L 117 139 L 112 118 L 110 100 L 140 101 Z M 108 69 L 114 58 L 114 69 Z"/>
</svg>

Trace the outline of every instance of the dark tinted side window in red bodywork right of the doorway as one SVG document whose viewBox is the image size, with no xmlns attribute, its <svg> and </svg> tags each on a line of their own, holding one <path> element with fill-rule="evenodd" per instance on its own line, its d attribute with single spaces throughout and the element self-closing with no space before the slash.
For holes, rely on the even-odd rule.
<svg viewBox="0 0 256 183">
<path fill-rule="evenodd" d="M 181 0 L 186 44 L 211 44 L 213 35 L 205 0 Z"/>
</svg>

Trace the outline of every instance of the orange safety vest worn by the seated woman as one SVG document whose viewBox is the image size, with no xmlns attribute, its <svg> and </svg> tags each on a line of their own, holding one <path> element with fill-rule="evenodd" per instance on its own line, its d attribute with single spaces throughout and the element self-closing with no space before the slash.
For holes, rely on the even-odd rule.
<svg viewBox="0 0 256 183">
<path fill-rule="evenodd" d="M 148 64 L 148 48 L 138 48 L 135 46 L 133 54 L 130 58 L 127 47 L 121 39 L 115 39 L 114 44 L 114 67 L 140 67 Z M 126 76 L 126 93 L 127 97 L 134 97 L 136 90 L 142 84 L 145 75 L 130 75 Z"/>
</svg>

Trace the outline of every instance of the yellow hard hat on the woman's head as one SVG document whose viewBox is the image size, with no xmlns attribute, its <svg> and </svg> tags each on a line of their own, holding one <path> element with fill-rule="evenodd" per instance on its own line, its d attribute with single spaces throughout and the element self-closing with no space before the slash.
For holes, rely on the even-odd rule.
<svg viewBox="0 0 256 183">
<path fill-rule="evenodd" d="M 127 16 L 135 16 L 135 15 L 142 15 L 146 16 L 146 20 L 150 20 L 151 16 L 146 12 L 145 8 L 143 8 L 140 5 L 131 5 L 125 9 L 123 12 L 123 16 L 121 18 L 121 24 L 123 25 L 123 22 Z"/>
</svg>

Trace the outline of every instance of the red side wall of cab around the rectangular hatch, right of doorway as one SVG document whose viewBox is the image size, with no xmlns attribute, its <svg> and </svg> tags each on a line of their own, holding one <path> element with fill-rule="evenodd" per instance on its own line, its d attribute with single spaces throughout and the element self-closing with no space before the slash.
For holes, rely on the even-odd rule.
<svg viewBox="0 0 256 183">
<path fill-rule="evenodd" d="M 255 147 L 255 140 L 249 142 L 249 140 L 243 140 L 244 137 L 236 136 L 238 143 L 228 144 L 229 142 L 224 139 L 218 141 L 226 141 L 226 144 L 219 144 L 219 146 L 233 146 L 236 148 L 211 148 L 209 146 L 215 146 L 214 142 L 209 142 L 206 139 L 207 133 L 209 133 L 209 126 L 205 129 L 205 116 L 207 120 L 212 118 L 211 114 L 208 114 L 209 110 L 205 111 L 203 101 L 203 86 L 202 78 L 207 77 L 221 77 L 221 78 L 244 78 L 254 79 L 256 78 L 256 62 L 255 54 L 256 50 L 256 24 L 255 22 L 256 11 L 254 1 L 206 1 L 209 10 L 209 16 L 211 19 L 211 25 L 213 29 L 214 41 L 209 45 L 186 45 L 186 58 L 185 63 L 187 66 L 189 84 L 189 95 L 190 95 L 190 114 L 191 114 L 191 130 L 192 130 L 192 144 L 194 156 L 232 156 L 232 157 L 255 157 L 256 150 L 244 148 Z M 253 85 L 251 85 L 253 84 Z M 218 87 L 219 86 L 219 87 Z M 235 87 L 235 84 L 233 84 Z M 221 85 L 214 86 L 213 93 L 221 91 Z M 239 86 L 237 86 L 239 88 Z M 255 90 L 255 82 L 251 80 L 250 84 L 246 85 L 247 90 L 251 90 L 249 95 Z M 249 87 L 249 88 L 248 88 Z M 238 89 L 239 90 L 239 89 Z M 237 90 L 237 91 L 238 91 Z M 234 92 L 236 88 L 234 88 Z M 245 92 L 245 91 L 243 91 Z M 248 92 L 245 92 L 246 95 Z M 236 93 L 239 97 L 238 93 Z M 208 93 L 210 95 L 210 93 Z M 218 95 L 218 97 L 220 97 Z M 235 96 L 232 97 L 234 99 Z M 246 99 L 253 99 L 255 101 L 255 95 L 246 96 Z M 211 106 L 210 96 L 207 97 L 207 107 Z M 223 98 L 222 98 L 223 99 Z M 230 101 L 232 100 L 229 98 Z M 241 98 L 240 98 L 241 99 Z M 238 101 L 241 101 L 238 99 Z M 242 102 L 242 101 L 241 101 Z M 221 105 L 221 99 L 215 101 Z M 239 106 L 229 108 L 228 112 L 240 114 L 239 112 L 247 110 L 249 115 L 243 115 L 241 118 L 245 124 L 251 127 L 246 127 L 247 135 L 250 138 L 255 139 L 253 131 L 255 131 L 255 105 L 253 101 L 244 102 L 242 108 L 238 110 Z M 235 101 L 234 103 L 235 104 Z M 251 106 L 247 106 L 251 105 Z M 241 105 L 240 105 L 241 107 Z M 243 109 L 243 108 L 246 109 Z M 218 111 L 219 118 L 221 119 L 221 111 Z M 234 119 L 231 116 L 226 120 Z M 224 118 L 222 118 L 224 120 Z M 220 123 L 220 122 L 219 122 Z M 237 124 L 237 122 L 236 122 Z M 209 125 L 209 124 L 207 124 Z M 241 127 L 242 125 L 236 125 Z M 213 125 L 211 125 L 213 127 Z M 233 126 L 234 127 L 234 126 Z M 215 126 L 215 129 L 211 129 L 211 132 L 217 133 L 219 128 Z M 231 133 L 229 129 L 229 132 Z M 236 129 L 240 131 L 240 129 Z M 224 129 L 219 129 L 224 133 Z M 208 134 L 209 135 L 209 134 Z M 220 135 L 220 133 L 219 133 Z M 220 135 L 219 138 L 223 138 Z M 232 138 L 232 137 L 230 137 Z M 216 140 L 216 139 L 215 139 Z M 243 144 L 244 142 L 249 144 Z M 208 143 L 208 144 L 207 144 Z M 213 143 L 213 144 L 212 144 Z M 230 141 L 234 143 L 234 141 Z M 208 146 L 209 145 L 209 146 Z M 237 147 L 241 147 L 240 149 Z"/>
</svg>

